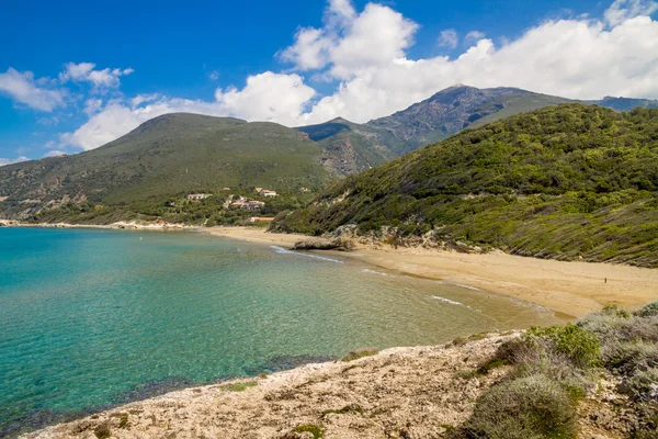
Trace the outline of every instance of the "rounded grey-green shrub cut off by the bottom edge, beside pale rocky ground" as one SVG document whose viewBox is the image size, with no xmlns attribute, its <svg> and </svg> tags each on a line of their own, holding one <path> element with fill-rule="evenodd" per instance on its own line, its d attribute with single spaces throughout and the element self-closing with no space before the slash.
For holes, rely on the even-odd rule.
<svg viewBox="0 0 658 439">
<path fill-rule="evenodd" d="M 576 438 L 575 404 L 544 375 L 521 378 L 483 395 L 465 429 L 474 438 Z"/>
</svg>

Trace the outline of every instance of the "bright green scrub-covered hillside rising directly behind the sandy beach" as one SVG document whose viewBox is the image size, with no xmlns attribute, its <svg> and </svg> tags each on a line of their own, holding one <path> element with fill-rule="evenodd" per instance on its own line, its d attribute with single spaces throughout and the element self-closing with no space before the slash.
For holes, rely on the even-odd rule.
<svg viewBox="0 0 658 439">
<path fill-rule="evenodd" d="M 402 244 L 658 267 L 658 109 L 560 104 L 466 130 L 340 181 L 272 228 L 349 224 Z"/>
</svg>

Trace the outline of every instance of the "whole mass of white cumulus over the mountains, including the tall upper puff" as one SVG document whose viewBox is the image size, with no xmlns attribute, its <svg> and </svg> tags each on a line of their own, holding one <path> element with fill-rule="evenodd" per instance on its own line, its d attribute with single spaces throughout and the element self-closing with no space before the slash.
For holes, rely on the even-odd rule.
<svg viewBox="0 0 658 439">
<path fill-rule="evenodd" d="M 266 71 L 247 78 L 241 89 L 217 89 L 209 102 L 163 95 L 110 102 L 63 139 L 91 149 L 148 119 L 179 111 L 290 126 L 339 115 L 366 122 L 455 83 L 519 87 L 575 99 L 658 98 L 658 22 L 647 16 L 654 4 L 616 0 L 600 20 L 544 21 L 503 45 L 473 31 L 457 57 L 412 59 L 408 49 L 417 23 L 386 5 L 368 3 L 359 12 L 349 0 L 331 0 L 325 24 L 299 29 L 294 44 L 279 54 L 297 71 L 333 85 L 329 94 L 318 97 L 297 74 Z M 455 41 L 456 33 L 451 46 Z"/>
</svg>

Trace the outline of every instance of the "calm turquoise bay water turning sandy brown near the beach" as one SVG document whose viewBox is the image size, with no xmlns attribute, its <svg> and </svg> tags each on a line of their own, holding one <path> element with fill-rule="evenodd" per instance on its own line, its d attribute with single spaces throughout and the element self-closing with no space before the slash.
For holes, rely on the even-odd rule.
<svg viewBox="0 0 658 439">
<path fill-rule="evenodd" d="M 481 291 L 202 234 L 0 228 L 0 437 L 360 347 L 553 322 Z"/>
</svg>

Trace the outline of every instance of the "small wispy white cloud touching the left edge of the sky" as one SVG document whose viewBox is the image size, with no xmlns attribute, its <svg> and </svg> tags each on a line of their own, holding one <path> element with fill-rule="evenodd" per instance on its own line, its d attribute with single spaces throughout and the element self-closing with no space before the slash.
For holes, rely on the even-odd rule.
<svg viewBox="0 0 658 439">
<path fill-rule="evenodd" d="M 50 112 L 65 105 L 66 91 L 39 87 L 31 71 L 20 72 L 9 68 L 0 74 L 0 93 L 9 94 L 14 101 L 34 110 Z"/>
</svg>

